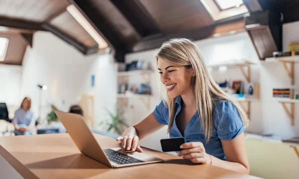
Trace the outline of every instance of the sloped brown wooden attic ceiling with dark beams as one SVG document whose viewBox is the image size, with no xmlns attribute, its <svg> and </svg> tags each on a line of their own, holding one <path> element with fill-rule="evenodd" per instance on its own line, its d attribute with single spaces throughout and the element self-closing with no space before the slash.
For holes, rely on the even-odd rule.
<svg viewBox="0 0 299 179">
<path fill-rule="evenodd" d="M 250 13 L 269 10 L 282 13 L 283 23 L 299 20 L 297 0 L 243 1 Z M 173 37 L 200 40 L 246 30 L 245 14 L 214 20 L 202 0 L 0 0 L 0 36 L 50 31 L 85 55 L 97 53 L 95 40 L 66 11 L 70 4 L 107 40 L 119 62 L 126 53 L 157 48 Z"/>
</svg>

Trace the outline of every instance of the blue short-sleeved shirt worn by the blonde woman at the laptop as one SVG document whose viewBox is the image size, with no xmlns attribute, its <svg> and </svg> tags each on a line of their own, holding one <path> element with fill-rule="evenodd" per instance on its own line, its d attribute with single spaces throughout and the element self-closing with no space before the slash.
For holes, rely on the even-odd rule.
<svg viewBox="0 0 299 179">
<path fill-rule="evenodd" d="M 245 127 L 243 125 L 238 109 L 230 101 L 218 100 L 215 102 L 213 109 L 213 130 L 212 136 L 206 143 L 203 129 L 200 125 L 200 116 L 198 111 L 192 116 L 187 123 L 183 136 L 176 126 L 176 116 L 181 110 L 181 96 L 177 96 L 175 100 L 175 116 L 173 125 L 169 132 L 169 137 L 184 137 L 186 142 L 202 142 L 206 153 L 225 160 L 222 144 L 220 140 L 232 140 L 241 134 Z M 169 113 L 168 108 L 161 101 L 153 111 L 153 115 L 158 122 L 168 125 Z"/>
</svg>

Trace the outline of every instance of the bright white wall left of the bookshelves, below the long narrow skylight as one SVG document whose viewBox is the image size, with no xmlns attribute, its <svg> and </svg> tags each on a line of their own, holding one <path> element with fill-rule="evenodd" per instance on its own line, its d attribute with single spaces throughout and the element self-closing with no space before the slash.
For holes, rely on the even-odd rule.
<svg viewBox="0 0 299 179">
<path fill-rule="evenodd" d="M 94 88 L 91 88 L 91 74 L 96 79 Z M 41 116 L 45 119 L 51 104 L 68 111 L 70 105 L 78 102 L 80 94 L 93 93 L 95 108 L 99 109 L 95 110 L 95 123 L 98 124 L 102 117 L 100 108 L 107 104 L 112 109 L 115 103 L 114 98 L 110 99 L 114 89 L 116 91 L 116 84 L 106 80 L 107 77 L 115 78 L 115 75 L 111 55 L 84 56 L 55 35 L 36 32 L 33 48 L 27 48 L 23 60 L 21 97 L 32 98 L 32 110 L 38 117 L 40 90 L 37 84 L 46 85 L 48 89 L 42 91 Z M 111 93 L 107 94 L 107 91 Z"/>
</svg>

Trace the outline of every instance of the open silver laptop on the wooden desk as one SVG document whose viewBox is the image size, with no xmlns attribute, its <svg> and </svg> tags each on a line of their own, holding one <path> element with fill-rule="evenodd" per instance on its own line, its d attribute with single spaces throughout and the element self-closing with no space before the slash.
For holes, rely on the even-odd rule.
<svg viewBox="0 0 299 179">
<path fill-rule="evenodd" d="M 55 110 L 58 118 L 80 152 L 111 168 L 163 162 L 145 153 L 126 152 L 122 148 L 102 149 L 79 114 Z"/>
</svg>

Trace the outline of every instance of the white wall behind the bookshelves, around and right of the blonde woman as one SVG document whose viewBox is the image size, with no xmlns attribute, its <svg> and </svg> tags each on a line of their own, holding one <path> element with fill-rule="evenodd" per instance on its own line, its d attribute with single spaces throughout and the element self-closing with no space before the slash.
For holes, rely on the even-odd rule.
<svg viewBox="0 0 299 179">
<path fill-rule="evenodd" d="M 284 49 L 285 44 L 288 44 L 291 39 L 293 41 L 299 41 L 299 35 L 293 38 L 294 30 L 298 28 L 299 23 L 284 25 Z M 271 133 L 288 137 L 299 135 L 298 104 L 295 105 L 295 126 L 291 126 L 288 115 L 285 113 L 282 105 L 272 98 L 273 88 L 290 87 L 290 80 L 287 74 L 280 64 L 260 64 L 247 32 L 196 41 L 195 44 L 201 51 L 206 64 L 226 63 L 230 60 L 238 59 L 250 60 L 258 64 L 251 66 L 251 82 L 260 83 L 261 97 L 259 101 L 251 103 L 251 122 L 246 129 L 247 132 Z M 125 59 L 128 63 L 133 60 L 154 62 L 154 53 L 155 50 L 149 50 L 127 54 Z M 298 65 L 295 66 L 295 69 L 296 68 L 298 69 Z M 296 72 L 295 74 L 296 87 L 299 88 L 299 75 Z M 230 68 L 226 72 L 213 70 L 211 75 L 215 81 L 223 81 L 225 79 L 245 81 L 245 77 L 242 76 L 239 68 Z M 132 81 L 135 81 L 136 77 L 132 79 Z M 156 86 L 155 81 L 152 82 L 152 86 Z M 147 110 L 144 106 L 140 105 L 142 103 L 138 99 L 130 99 L 131 108 L 134 110 L 131 110 L 129 118 L 134 118 L 134 122 L 142 120 L 153 111 L 159 101 L 159 94 L 154 93 L 151 99 L 150 109 Z M 165 137 L 168 137 L 168 135 L 166 135 L 166 128 L 163 128 L 158 133 L 145 138 L 141 144 L 160 150 L 159 139 Z"/>
</svg>

